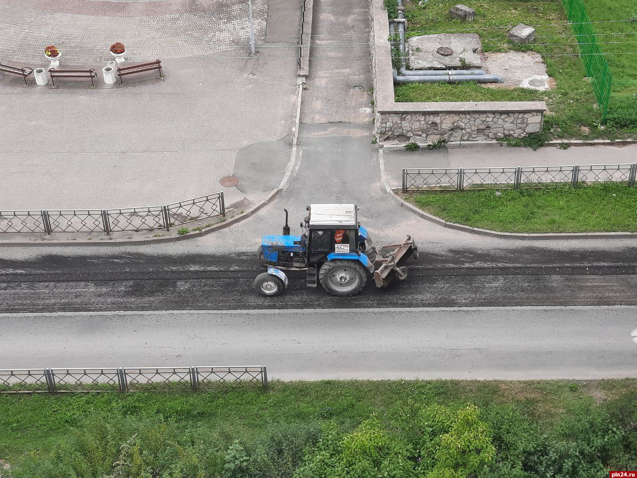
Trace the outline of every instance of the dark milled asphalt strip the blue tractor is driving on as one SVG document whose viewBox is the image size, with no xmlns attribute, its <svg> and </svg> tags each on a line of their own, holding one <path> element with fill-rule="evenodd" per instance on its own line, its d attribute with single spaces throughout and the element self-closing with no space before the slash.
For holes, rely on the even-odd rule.
<svg viewBox="0 0 637 478">
<path fill-rule="evenodd" d="M 305 287 L 303 272 L 290 273 L 282 296 L 263 298 L 252 286 L 262 272 L 255 253 L 0 259 L 0 312 L 637 305 L 633 252 L 421 252 L 405 282 L 379 290 L 369 280 L 352 298 Z"/>
</svg>

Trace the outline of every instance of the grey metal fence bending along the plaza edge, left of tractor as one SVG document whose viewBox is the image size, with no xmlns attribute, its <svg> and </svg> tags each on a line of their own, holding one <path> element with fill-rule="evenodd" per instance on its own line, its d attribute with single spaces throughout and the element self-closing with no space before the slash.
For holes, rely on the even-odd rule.
<svg viewBox="0 0 637 478">
<path fill-rule="evenodd" d="M 0 210 L 0 233 L 152 231 L 225 216 L 224 193 L 165 206 L 114 209 Z"/>
</svg>

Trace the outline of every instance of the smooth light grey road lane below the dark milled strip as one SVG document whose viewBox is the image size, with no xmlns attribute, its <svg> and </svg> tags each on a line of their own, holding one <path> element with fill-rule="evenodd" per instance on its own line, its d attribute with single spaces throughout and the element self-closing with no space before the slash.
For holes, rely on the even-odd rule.
<svg viewBox="0 0 637 478">
<path fill-rule="evenodd" d="M 637 376 L 637 307 L 0 314 L 0 368 L 263 363 L 275 379 Z"/>
</svg>

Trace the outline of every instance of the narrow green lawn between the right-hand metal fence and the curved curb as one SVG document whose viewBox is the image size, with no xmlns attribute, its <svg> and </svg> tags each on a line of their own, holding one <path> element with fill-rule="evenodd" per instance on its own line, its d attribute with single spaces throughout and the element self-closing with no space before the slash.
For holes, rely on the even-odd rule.
<svg viewBox="0 0 637 478">
<path fill-rule="evenodd" d="M 637 188 L 621 184 L 560 189 L 423 192 L 420 209 L 473 228 L 511 233 L 637 231 Z"/>
</svg>

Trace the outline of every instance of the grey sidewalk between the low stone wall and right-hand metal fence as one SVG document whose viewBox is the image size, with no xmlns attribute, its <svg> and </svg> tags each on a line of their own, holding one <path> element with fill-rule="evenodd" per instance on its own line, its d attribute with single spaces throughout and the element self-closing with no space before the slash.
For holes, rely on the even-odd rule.
<svg viewBox="0 0 637 478">
<path fill-rule="evenodd" d="M 637 162 L 637 145 L 574 146 L 566 150 L 544 147 L 537 151 L 506 145 L 458 147 L 419 151 L 383 149 L 389 185 L 401 187 L 403 168 L 504 168 L 517 166 L 571 166 L 573 164 L 629 164 Z"/>
</svg>

